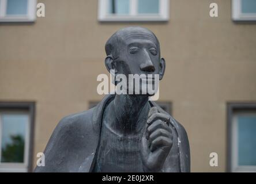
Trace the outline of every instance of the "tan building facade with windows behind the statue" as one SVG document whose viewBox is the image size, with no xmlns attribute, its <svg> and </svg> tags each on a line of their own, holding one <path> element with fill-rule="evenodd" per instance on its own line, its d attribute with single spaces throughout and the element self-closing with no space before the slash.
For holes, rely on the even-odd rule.
<svg viewBox="0 0 256 184">
<path fill-rule="evenodd" d="M 159 102 L 187 131 L 191 171 L 255 170 L 255 3 L 130 1 L 40 0 L 45 17 L 19 22 L 6 17 L 22 5 L 0 1 L 0 171 L 31 171 L 59 120 L 103 98 L 96 89 L 97 75 L 108 74 L 104 44 L 126 26 L 149 28 L 160 41 L 167 68 Z"/>
</svg>

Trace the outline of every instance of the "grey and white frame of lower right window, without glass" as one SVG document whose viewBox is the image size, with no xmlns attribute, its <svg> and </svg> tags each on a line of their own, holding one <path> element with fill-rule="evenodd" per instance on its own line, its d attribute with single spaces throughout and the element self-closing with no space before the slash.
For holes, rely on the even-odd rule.
<svg viewBox="0 0 256 184">
<path fill-rule="evenodd" d="M 256 113 L 256 102 L 235 103 L 227 105 L 227 170 L 228 172 L 255 172 L 256 166 L 238 165 L 237 117 Z"/>
</svg>

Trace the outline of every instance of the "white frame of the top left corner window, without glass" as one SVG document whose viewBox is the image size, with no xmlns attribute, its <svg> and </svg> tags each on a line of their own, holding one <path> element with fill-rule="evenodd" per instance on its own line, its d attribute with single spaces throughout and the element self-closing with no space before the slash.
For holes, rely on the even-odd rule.
<svg viewBox="0 0 256 184">
<path fill-rule="evenodd" d="M 34 22 L 37 0 L 28 0 L 27 15 L 7 15 L 7 0 L 0 0 L 0 22 Z"/>
</svg>

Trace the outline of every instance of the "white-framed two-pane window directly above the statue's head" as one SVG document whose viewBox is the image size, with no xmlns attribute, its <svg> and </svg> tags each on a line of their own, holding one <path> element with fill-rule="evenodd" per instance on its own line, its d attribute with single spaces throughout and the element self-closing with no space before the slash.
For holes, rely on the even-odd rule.
<svg viewBox="0 0 256 184">
<path fill-rule="evenodd" d="M 169 0 L 99 0 L 99 21 L 168 21 Z"/>
</svg>

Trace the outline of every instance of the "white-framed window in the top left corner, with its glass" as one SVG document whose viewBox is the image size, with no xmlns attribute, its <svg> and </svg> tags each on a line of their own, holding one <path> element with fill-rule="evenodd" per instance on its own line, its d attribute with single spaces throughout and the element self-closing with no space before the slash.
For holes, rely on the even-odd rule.
<svg viewBox="0 0 256 184">
<path fill-rule="evenodd" d="M 0 0 L 0 22 L 33 22 L 36 0 Z"/>
</svg>

